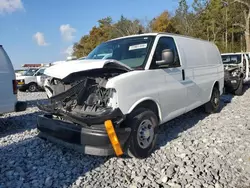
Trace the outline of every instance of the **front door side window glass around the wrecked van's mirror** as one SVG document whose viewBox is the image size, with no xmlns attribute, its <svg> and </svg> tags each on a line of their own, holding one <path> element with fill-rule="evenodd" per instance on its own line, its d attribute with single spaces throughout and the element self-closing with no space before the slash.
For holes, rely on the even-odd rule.
<svg viewBox="0 0 250 188">
<path fill-rule="evenodd" d="M 171 49 L 174 54 L 174 62 L 168 65 L 157 65 L 156 61 L 162 60 L 162 51 L 166 49 Z M 180 59 L 177 52 L 177 48 L 174 42 L 174 39 L 171 37 L 161 37 L 158 41 L 158 44 L 155 49 L 155 53 L 150 65 L 150 69 L 165 69 L 165 68 L 173 68 L 180 67 Z"/>
</svg>

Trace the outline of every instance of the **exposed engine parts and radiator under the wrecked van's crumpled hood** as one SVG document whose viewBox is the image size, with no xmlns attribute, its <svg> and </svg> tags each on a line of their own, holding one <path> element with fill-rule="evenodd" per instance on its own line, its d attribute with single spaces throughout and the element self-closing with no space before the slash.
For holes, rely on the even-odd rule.
<svg viewBox="0 0 250 188">
<path fill-rule="evenodd" d="M 113 110 L 108 106 L 113 89 L 105 88 L 106 78 L 85 77 L 71 84 L 53 79 L 49 82 L 51 85 L 47 89 L 53 96 L 46 101 L 47 104 L 38 104 L 43 111 L 77 119 L 97 117 Z"/>
</svg>

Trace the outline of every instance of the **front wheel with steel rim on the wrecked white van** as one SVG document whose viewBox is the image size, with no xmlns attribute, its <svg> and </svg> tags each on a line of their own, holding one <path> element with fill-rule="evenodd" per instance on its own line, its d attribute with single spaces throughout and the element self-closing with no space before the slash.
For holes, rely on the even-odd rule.
<svg viewBox="0 0 250 188">
<path fill-rule="evenodd" d="M 151 110 L 140 108 L 128 116 L 126 123 L 132 128 L 127 143 L 127 155 L 140 159 L 148 157 L 153 151 L 157 139 L 157 116 Z"/>
</svg>

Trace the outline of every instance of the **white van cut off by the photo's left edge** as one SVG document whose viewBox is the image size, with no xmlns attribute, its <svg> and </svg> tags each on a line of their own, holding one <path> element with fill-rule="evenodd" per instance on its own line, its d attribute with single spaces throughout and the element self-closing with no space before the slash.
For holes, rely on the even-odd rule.
<svg viewBox="0 0 250 188">
<path fill-rule="evenodd" d="M 0 45 L 0 114 L 26 110 L 26 102 L 17 101 L 17 82 L 12 63 Z"/>
</svg>

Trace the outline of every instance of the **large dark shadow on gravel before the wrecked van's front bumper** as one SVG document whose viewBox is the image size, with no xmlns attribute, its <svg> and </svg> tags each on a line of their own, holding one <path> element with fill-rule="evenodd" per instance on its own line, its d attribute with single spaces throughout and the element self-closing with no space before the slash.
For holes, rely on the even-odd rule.
<svg viewBox="0 0 250 188">
<path fill-rule="evenodd" d="M 0 187 L 70 187 L 77 184 L 79 177 L 108 160 L 38 137 L 0 147 L 0 152 Z"/>
</svg>

